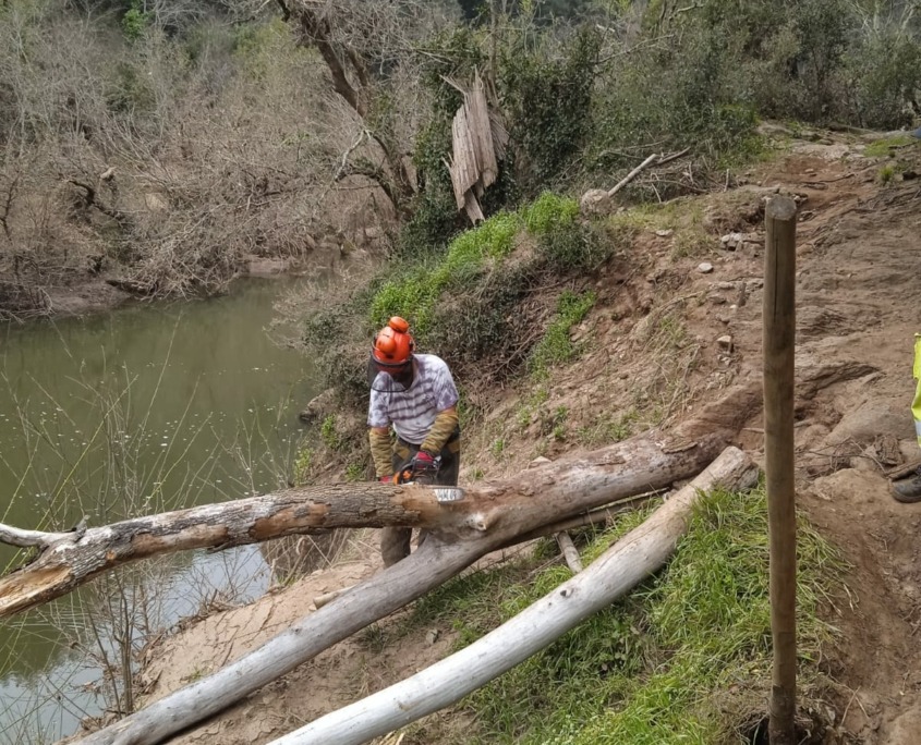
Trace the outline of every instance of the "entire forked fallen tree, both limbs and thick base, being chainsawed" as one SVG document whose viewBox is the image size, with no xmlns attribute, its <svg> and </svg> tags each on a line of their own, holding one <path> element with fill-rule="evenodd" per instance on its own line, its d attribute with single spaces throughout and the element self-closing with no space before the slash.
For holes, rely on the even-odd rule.
<svg viewBox="0 0 921 745">
<path fill-rule="evenodd" d="M 800 398 L 808 399 L 825 386 L 871 371 L 871 367 L 849 362 L 822 366 L 805 364 L 798 370 L 798 392 Z M 739 386 L 712 402 L 695 418 L 667 433 L 646 432 L 581 459 L 548 464 L 514 479 L 469 490 L 466 499 L 447 510 L 438 505 L 431 490 L 424 488 L 377 487 L 388 494 L 388 499 L 381 499 L 377 505 L 389 503 L 397 511 L 381 516 L 374 509 L 360 509 L 362 501 L 355 498 L 356 493 L 373 485 L 351 485 L 351 491 L 343 494 L 351 493 L 351 502 L 334 505 L 302 499 L 298 505 L 296 499 L 292 499 L 277 513 L 260 513 L 245 529 L 245 522 L 241 522 L 230 532 L 219 529 L 220 524 L 215 516 L 202 524 L 189 522 L 187 518 L 194 515 L 187 511 L 173 513 L 186 518 L 180 525 L 169 525 L 169 521 L 156 522 L 165 517 L 159 515 L 146 518 L 155 522 L 135 525 L 146 525 L 135 534 L 113 530 L 117 526 L 90 528 L 82 537 L 0 528 L 0 540 L 43 549 L 33 564 L 0 581 L 0 603 L 32 595 L 22 606 L 32 607 L 85 582 L 92 574 L 71 577 L 74 567 L 69 564 L 70 551 L 80 550 L 85 541 L 92 546 L 95 561 L 101 561 L 93 571 L 93 574 L 98 574 L 119 563 L 141 558 L 145 547 L 147 553 L 144 555 L 153 555 L 184 548 L 254 542 L 292 533 L 307 533 L 315 527 L 330 527 L 336 520 L 342 521 L 343 525 L 427 525 L 427 521 L 445 522 L 434 527 L 431 539 L 416 553 L 343 593 L 260 649 L 81 741 L 87 745 L 162 742 L 402 608 L 485 553 L 536 535 L 552 535 L 571 527 L 590 518 L 591 511 L 597 505 L 694 476 L 735 438 L 739 428 L 760 407 L 760 381 Z M 317 493 L 320 492 L 315 491 L 314 496 Z M 332 494 L 325 493 L 327 498 Z M 275 497 L 289 499 L 293 494 L 284 492 Z M 226 515 L 229 517 L 237 514 L 241 505 L 251 502 L 242 500 L 215 505 L 214 509 L 229 509 Z M 348 504 L 354 506 L 351 513 L 349 509 L 343 509 Z M 463 508 L 459 512 L 452 512 L 461 505 Z M 241 514 L 245 514 L 245 509 Z M 462 520 L 455 520 L 458 516 Z M 109 544 L 108 550 L 104 548 L 104 533 L 118 539 Z M 87 565 L 82 563 L 84 569 Z M 39 583 L 46 595 L 34 595 L 29 581 Z"/>
</svg>

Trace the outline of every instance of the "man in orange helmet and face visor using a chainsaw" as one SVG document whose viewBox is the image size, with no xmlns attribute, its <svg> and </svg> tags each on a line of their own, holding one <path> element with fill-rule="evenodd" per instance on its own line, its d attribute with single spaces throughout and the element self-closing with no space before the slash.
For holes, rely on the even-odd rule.
<svg viewBox="0 0 921 745">
<path fill-rule="evenodd" d="M 393 316 L 374 338 L 368 380 L 368 440 L 377 478 L 392 483 L 393 474 L 409 467 L 420 484 L 457 486 L 458 389 L 447 363 L 434 354 L 416 354 L 410 325 Z M 411 539 L 412 528 L 385 527 L 384 565 L 405 559 Z M 424 539 L 421 532 L 419 544 Z"/>
</svg>

